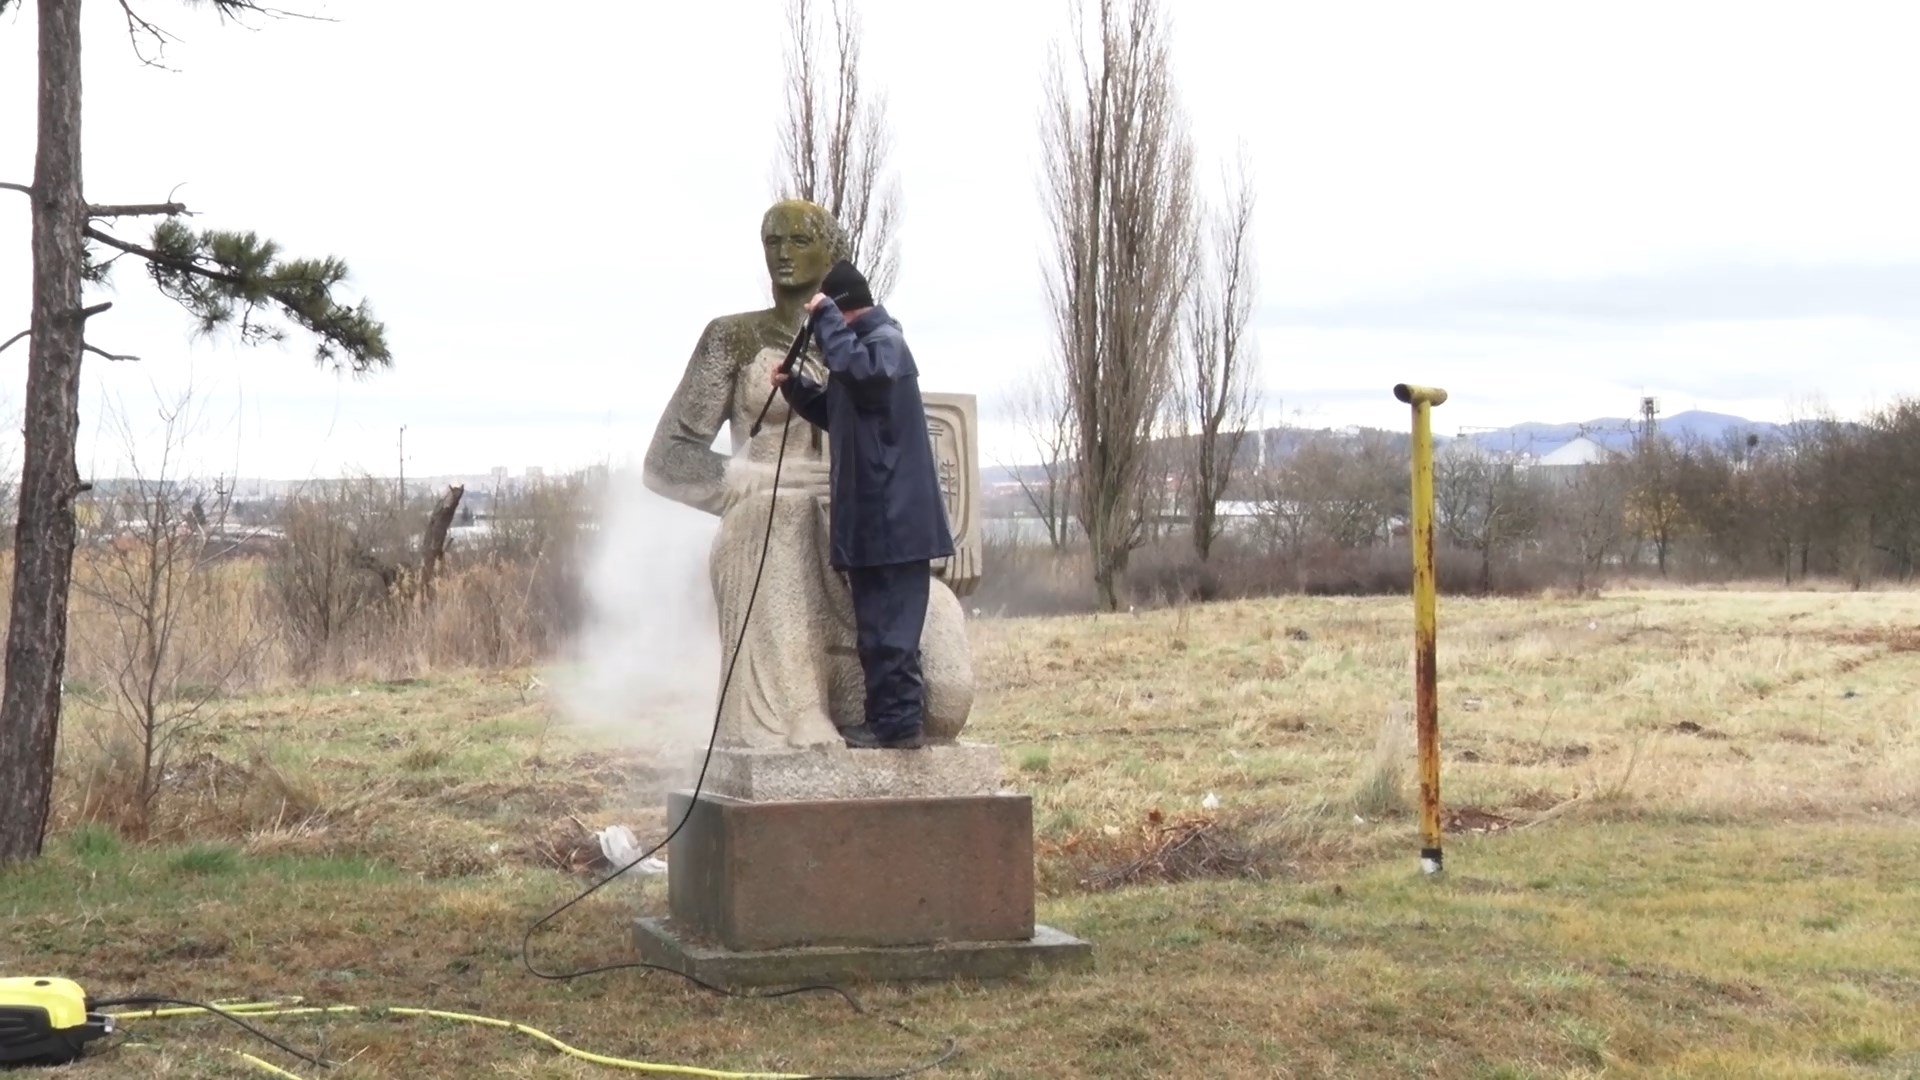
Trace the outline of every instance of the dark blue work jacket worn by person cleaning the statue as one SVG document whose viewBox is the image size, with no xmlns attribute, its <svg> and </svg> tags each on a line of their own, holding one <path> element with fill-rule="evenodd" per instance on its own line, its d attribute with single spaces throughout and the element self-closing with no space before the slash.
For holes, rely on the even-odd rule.
<svg viewBox="0 0 1920 1080">
<path fill-rule="evenodd" d="M 849 325 L 831 300 L 814 309 L 810 325 L 828 380 L 822 386 L 795 371 L 780 390 L 793 411 L 828 432 L 833 567 L 952 555 L 920 369 L 900 325 L 881 306 Z"/>
</svg>

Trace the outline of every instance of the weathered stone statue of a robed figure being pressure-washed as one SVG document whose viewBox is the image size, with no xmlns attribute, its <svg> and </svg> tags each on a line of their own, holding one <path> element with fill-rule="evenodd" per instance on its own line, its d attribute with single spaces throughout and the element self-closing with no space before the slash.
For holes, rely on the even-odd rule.
<svg viewBox="0 0 1920 1080">
<path fill-rule="evenodd" d="M 720 678 L 733 661 L 741 619 L 747 636 L 733 661 L 716 746 L 843 746 L 839 728 L 864 719 L 866 688 L 854 651 L 852 598 L 828 563 L 826 436 L 791 415 L 778 394 L 760 434 L 751 438 L 749 430 L 772 388 L 772 369 L 806 325 L 806 300 L 845 254 L 845 240 L 826 209 L 785 200 L 766 211 L 760 244 L 774 306 L 707 323 L 653 432 L 645 482 L 660 496 L 720 517 L 708 561 L 720 611 Z M 803 363 L 812 379 L 828 377 L 816 344 L 808 344 Z M 712 450 L 722 423 L 732 457 Z M 772 502 L 783 429 L 780 500 Z M 958 530 L 962 523 L 952 527 Z M 749 619 L 762 540 L 766 571 Z M 958 596 L 945 580 L 933 580 L 931 588 L 922 638 L 924 730 L 929 740 L 952 740 L 973 707 L 973 665 Z"/>
</svg>

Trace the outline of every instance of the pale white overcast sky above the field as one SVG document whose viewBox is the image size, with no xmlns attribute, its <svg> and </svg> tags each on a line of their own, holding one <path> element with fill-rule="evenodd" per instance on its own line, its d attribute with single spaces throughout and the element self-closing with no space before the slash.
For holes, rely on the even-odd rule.
<svg viewBox="0 0 1920 1080">
<path fill-rule="evenodd" d="M 286 0 L 221 27 L 175 0 L 179 71 L 86 8 L 86 194 L 338 254 L 388 321 L 367 380 L 192 340 L 138 273 L 90 340 L 83 473 L 198 388 L 207 467 L 307 477 L 637 461 L 707 319 L 764 304 L 783 0 Z M 33 6 L 0 17 L 0 179 L 33 173 Z M 1260 177 L 1273 419 L 1442 430 L 1626 415 L 1642 394 L 1784 419 L 1920 382 L 1920 6 L 1177 0 L 1202 179 Z M 1064 0 L 862 0 L 904 192 L 889 304 L 929 390 L 996 392 L 1046 346 L 1037 115 Z M 459 12 L 453 19 L 449 13 Z M 123 234 L 142 234 L 144 225 Z M 29 315 L 27 200 L 0 192 L 0 340 Z M 134 267 L 123 265 L 123 271 Z M 25 348 L 0 357 L 4 404 Z M 17 432 L 15 432 L 17 434 Z"/>
</svg>

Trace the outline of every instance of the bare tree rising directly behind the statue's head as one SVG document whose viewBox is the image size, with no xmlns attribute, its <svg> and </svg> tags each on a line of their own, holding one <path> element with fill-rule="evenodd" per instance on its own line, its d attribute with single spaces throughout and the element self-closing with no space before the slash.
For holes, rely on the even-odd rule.
<svg viewBox="0 0 1920 1080">
<path fill-rule="evenodd" d="M 874 300 L 885 302 L 900 275 L 900 184 L 885 177 L 887 100 L 860 81 L 860 17 L 851 0 L 829 0 L 828 40 L 820 40 L 814 4 L 787 0 L 787 115 L 774 196 L 824 206 L 847 233 L 849 258 Z"/>
</svg>

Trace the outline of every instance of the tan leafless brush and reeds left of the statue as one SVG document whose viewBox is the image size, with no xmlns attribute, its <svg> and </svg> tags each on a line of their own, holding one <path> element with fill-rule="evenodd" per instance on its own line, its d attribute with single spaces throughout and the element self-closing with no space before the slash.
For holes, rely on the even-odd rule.
<svg viewBox="0 0 1920 1080">
<path fill-rule="evenodd" d="M 407 492 L 357 475 L 236 498 L 182 467 L 190 394 L 131 475 L 79 500 L 69 690 L 152 744 L 225 694 L 436 667 L 538 663 L 578 628 L 599 471 L 490 492 Z M 129 430 L 123 413 L 115 415 Z M 459 525 L 476 525 L 459 528 Z"/>
</svg>

